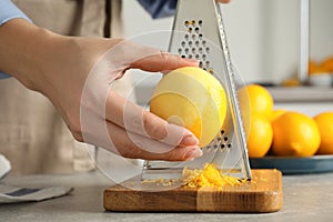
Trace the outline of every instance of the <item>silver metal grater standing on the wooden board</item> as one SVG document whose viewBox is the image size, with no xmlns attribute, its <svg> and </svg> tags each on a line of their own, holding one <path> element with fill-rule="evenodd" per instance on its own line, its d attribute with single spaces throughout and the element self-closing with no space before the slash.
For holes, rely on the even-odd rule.
<svg viewBox="0 0 333 222">
<path fill-rule="evenodd" d="M 236 98 L 221 6 L 214 0 L 179 0 L 169 51 L 200 61 L 224 87 L 228 113 L 215 139 L 202 148 L 203 155 L 188 162 L 144 161 L 142 179 L 181 178 L 184 167 L 202 169 L 212 162 L 224 174 L 251 179 L 245 133 Z"/>
</svg>

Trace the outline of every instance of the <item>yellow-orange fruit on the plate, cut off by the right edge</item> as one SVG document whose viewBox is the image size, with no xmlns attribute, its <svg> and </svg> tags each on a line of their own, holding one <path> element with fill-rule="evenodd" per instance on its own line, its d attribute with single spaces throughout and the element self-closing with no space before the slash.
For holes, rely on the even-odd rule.
<svg viewBox="0 0 333 222">
<path fill-rule="evenodd" d="M 313 119 L 321 133 L 321 144 L 317 153 L 333 154 L 333 112 L 322 112 Z"/>
</svg>

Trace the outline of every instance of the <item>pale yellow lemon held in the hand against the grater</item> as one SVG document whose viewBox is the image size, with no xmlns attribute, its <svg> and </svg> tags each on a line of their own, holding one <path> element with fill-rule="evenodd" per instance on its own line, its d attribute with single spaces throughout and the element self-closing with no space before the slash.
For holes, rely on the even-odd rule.
<svg viewBox="0 0 333 222">
<path fill-rule="evenodd" d="M 189 129 L 199 145 L 209 144 L 225 119 L 226 97 L 222 84 L 211 73 L 185 67 L 165 74 L 158 83 L 150 111 Z"/>
</svg>

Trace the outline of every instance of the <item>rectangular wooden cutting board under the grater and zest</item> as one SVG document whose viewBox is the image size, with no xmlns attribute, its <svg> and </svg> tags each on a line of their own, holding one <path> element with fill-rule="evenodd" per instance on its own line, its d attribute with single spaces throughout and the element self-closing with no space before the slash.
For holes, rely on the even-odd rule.
<svg viewBox="0 0 333 222">
<path fill-rule="evenodd" d="M 135 189 L 133 184 L 135 184 Z M 147 186 L 164 191 L 147 191 Z M 127 181 L 104 191 L 107 211 L 275 212 L 282 208 L 282 174 L 278 170 L 252 170 L 252 180 L 236 186 L 189 189 Z M 145 190 L 145 191 L 142 191 Z M 161 190 L 161 189 L 160 189 Z"/>
</svg>

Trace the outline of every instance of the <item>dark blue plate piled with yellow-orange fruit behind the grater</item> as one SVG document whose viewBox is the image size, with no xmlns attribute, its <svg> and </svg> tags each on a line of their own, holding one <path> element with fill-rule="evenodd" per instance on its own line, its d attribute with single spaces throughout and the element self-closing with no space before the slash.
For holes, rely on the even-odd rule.
<svg viewBox="0 0 333 222">
<path fill-rule="evenodd" d="M 274 110 L 264 87 L 249 84 L 241 91 L 248 93 L 251 105 L 245 124 L 251 168 L 278 169 L 284 174 L 333 171 L 333 112 L 309 117 Z"/>
</svg>

